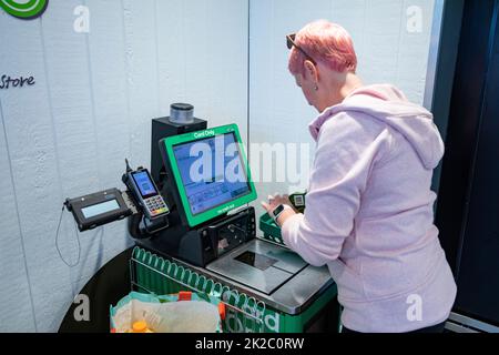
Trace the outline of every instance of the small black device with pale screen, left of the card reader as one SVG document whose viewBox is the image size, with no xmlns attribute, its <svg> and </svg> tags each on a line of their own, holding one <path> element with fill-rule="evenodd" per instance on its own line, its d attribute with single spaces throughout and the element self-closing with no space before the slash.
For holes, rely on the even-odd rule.
<svg viewBox="0 0 499 355">
<path fill-rule="evenodd" d="M 67 199 L 64 205 L 72 212 L 80 232 L 83 232 L 132 215 L 133 210 L 125 199 L 120 190 L 110 189 L 77 199 Z"/>
</svg>

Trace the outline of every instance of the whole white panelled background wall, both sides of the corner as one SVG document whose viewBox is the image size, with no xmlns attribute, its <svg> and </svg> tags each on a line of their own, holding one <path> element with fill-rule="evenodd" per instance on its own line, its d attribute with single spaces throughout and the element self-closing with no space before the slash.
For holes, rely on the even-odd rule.
<svg viewBox="0 0 499 355">
<path fill-rule="evenodd" d="M 248 68 L 248 1 L 251 65 Z M 73 30 L 77 6 L 90 33 Z M 422 9 L 422 32 L 405 30 Z M 343 23 L 367 83 L 422 101 L 434 0 L 51 0 L 43 17 L 0 10 L 0 74 L 35 85 L 0 90 L 0 332 L 53 332 L 84 283 L 131 245 L 125 223 L 80 235 L 82 260 L 59 258 L 62 201 L 120 186 L 123 159 L 149 166 L 150 121 L 187 101 L 212 126 L 236 122 L 251 142 L 310 142 L 315 116 L 287 72 L 284 36 L 310 20 Z M 247 72 L 249 109 L 247 118 Z M 251 126 L 247 126 L 249 119 Z M 312 154 L 312 151 L 309 152 Z M 261 197 L 287 184 L 258 185 Z M 71 216 L 60 246 L 77 260 Z"/>
</svg>

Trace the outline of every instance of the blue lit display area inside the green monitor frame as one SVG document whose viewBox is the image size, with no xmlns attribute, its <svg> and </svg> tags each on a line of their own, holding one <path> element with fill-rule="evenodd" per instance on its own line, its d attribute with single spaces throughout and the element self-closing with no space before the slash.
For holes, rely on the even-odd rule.
<svg viewBox="0 0 499 355">
<path fill-rule="evenodd" d="M 173 153 L 193 215 L 251 192 L 233 133 L 179 144 Z"/>
</svg>

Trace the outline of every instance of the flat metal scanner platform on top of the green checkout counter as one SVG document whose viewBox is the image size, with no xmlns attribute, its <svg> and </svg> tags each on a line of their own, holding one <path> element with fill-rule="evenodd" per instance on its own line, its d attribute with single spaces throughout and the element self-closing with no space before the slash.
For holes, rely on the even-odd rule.
<svg viewBox="0 0 499 355">
<path fill-rule="evenodd" d="M 267 306 L 288 315 L 302 314 L 326 292 L 330 292 L 332 287 L 336 290 L 327 267 L 312 266 L 288 248 L 261 239 L 252 240 L 206 267 L 196 266 L 166 255 L 162 251 L 155 250 L 153 244 L 146 240 L 138 241 L 136 244 L 179 265 L 186 266 L 200 275 L 253 296 Z M 277 260 L 277 263 L 266 268 L 267 272 L 265 272 L 256 266 L 245 265 L 244 262 L 234 260 L 245 252 Z M 241 267 L 236 263 L 243 266 Z M 261 264 L 258 266 L 263 267 Z M 272 267 L 275 271 L 268 271 Z M 246 272 L 246 274 L 243 272 Z"/>
</svg>

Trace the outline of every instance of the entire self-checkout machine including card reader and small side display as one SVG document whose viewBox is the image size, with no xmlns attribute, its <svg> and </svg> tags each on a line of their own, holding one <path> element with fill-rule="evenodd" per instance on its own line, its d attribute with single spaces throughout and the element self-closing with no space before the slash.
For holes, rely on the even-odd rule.
<svg viewBox="0 0 499 355">
<path fill-rule="evenodd" d="M 268 215 L 257 219 L 235 124 L 207 128 L 193 106 L 152 121 L 151 173 L 126 164 L 128 190 L 68 200 L 80 231 L 128 217 L 136 247 L 132 288 L 194 291 L 226 305 L 224 331 L 336 331 L 336 285 L 287 248 Z M 302 196 L 302 203 L 303 203 Z"/>
</svg>

